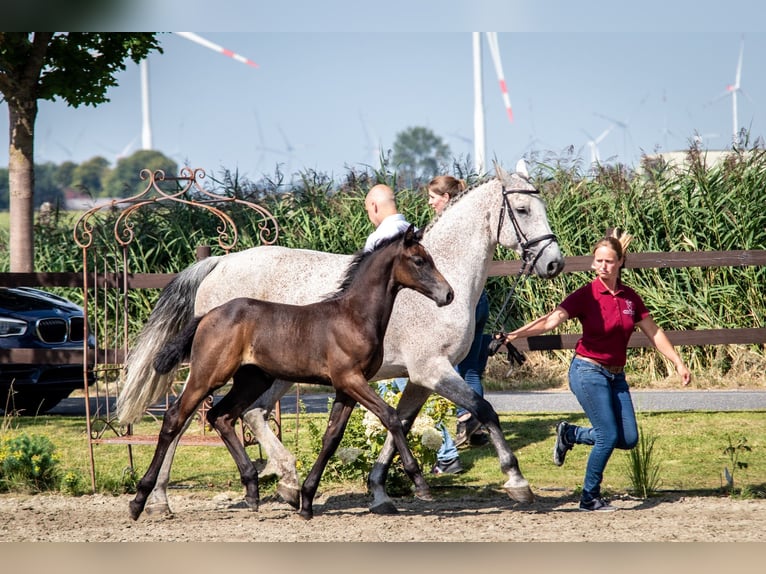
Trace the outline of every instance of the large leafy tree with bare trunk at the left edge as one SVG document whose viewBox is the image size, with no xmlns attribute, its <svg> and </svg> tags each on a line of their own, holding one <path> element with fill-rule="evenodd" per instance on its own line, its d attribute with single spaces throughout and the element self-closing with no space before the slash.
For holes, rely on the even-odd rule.
<svg viewBox="0 0 766 574">
<path fill-rule="evenodd" d="M 8 103 L 12 272 L 34 265 L 34 138 L 37 101 L 62 98 L 75 108 L 108 102 L 115 74 L 130 58 L 138 63 L 152 50 L 154 33 L 0 32 L 0 93 Z"/>
</svg>

